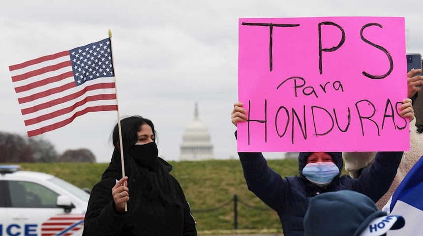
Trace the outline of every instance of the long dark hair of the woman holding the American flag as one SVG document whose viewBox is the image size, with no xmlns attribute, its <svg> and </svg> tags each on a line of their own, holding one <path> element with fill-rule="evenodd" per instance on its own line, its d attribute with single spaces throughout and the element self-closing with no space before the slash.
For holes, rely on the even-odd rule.
<svg viewBox="0 0 423 236">
<path fill-rule="evenodd" d="M 137 209 L 141 204 L 141 195 L 149 198 L 151 201 L 159 201 L 164 206 L 183 206 L 181 193 L 177 190 L 173 177 L 169 174 L 171 166 L 163 160 L 157 161 L 157 166 L 151 171 L 141 167 L 135 162 L 129 148 L 138 140 L 137 132 L 141 130 L 143 124 L 148 124 L 156 136 L 154 125 L 150 119 L 140 116 L 132 116 L 121 119 L 121 135 L 123 147 L 123 160 L 125 164 L 125 175 L 128 177 L 128 188 L 130 200 L 133 209 Z M 115 146 L 112 159 L 120 160 L 119 144 L 119 126 L 115 125 L 112 132 L 112 142 Z M 155 141 L 154 141 L 155 142 Z M 115 156 L 116 155 L 116 156 Z M 167 165 L 166 165 L 167 164 Z M 133 191 L 131 191 L 131 188 Z M 132 200 L 132 201 L 131 201 Z"/>
</svg>

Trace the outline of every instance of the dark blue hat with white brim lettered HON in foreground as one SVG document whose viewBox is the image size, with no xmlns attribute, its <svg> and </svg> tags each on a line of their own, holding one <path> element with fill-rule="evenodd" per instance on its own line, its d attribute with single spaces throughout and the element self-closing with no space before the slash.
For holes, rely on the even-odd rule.
<svg viewBox="0 0 423 236">
<path fill-rule="evenodd" d="M 341 190 L 311 198 L 304 216 L 304 236 L 381 236 L 404 225 L 402 216 L 378 210 L 369 197 Z"/>
</svg>

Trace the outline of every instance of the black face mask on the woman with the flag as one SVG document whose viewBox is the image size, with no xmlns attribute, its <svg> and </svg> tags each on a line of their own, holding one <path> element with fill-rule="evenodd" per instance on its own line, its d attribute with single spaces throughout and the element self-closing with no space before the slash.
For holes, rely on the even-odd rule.
<svg viewBox="0 0 423 236">
<path fill-rule="evenodd" d="M 134 144 L 129 149 L 134 160 L 149 170 L 157 165 L 158 149 L 154 142 L 148 144 Z"/>
</svg>

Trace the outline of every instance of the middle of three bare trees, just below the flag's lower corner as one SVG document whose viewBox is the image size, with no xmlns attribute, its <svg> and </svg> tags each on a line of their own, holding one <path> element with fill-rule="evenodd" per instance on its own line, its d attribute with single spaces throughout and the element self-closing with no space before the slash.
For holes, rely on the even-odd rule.
<svg viewBox="0 0 423 236">
<path fill-rule="evenodd" d="M 55 162 L 59 155 L 52 143 L 40 137 L 28 139 L 32 155 L 36 162 Z"/>
</svg>

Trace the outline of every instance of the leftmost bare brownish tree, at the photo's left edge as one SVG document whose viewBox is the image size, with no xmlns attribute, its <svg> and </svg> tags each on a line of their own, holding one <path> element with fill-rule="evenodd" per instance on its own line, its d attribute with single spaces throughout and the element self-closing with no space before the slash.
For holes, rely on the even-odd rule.
<svg viewBox="0 0 423 236">
<path fill-rule="evenodd" d="M 27 140 L 17 134 L 0 132 L 0 162 L 34 162 Z"/>
</svg>

